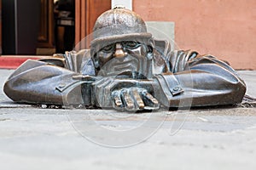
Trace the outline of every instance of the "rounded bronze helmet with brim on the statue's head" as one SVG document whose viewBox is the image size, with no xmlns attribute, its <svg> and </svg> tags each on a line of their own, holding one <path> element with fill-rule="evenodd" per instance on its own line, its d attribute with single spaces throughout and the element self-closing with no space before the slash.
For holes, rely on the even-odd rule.
<svg viewBox="0 0 256 170">
<path fill-rule="evenodd" d="M 91 46 L 102 42 L 136 41 L 152 37 L 144 20 L 126 8 L 113 8 L 101 14 L 93 28 Z"/>
</svg>

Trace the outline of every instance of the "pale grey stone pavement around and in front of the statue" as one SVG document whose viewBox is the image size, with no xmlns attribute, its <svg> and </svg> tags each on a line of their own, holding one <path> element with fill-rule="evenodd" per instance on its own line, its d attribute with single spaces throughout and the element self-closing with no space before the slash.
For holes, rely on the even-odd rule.
<svg viewBox="0 0 256 170">
<path fill-rule="evenodd" d="M 2 89 L 11 73 L 0 70 Z M 255 97 L 256 71 L 239 73 Z M 255 169 L 255 134 L 253 107 L 126 114 L 42 109 L 0 93 L 1 169 Z"/>
</svg>

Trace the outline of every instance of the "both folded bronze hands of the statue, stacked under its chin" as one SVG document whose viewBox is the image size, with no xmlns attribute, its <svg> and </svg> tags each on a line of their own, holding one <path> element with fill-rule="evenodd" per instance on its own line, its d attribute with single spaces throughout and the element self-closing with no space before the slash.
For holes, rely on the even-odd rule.
<svg viewBox="0 0 256 170">
<path fill-rule="evenodd" d="M 158 100 L 143 88 L 143 83 L 137 80 L 102 77 L 94 83 L 94 89 L 97 103 L 102 108 L 141 111 L 156 110 L 160 106 Z"/>
</svg>

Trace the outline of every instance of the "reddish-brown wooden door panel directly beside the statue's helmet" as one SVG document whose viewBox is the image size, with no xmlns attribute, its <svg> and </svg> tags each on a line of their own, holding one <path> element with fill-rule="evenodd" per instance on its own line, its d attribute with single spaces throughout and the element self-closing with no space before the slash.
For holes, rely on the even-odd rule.
<svg viewBox="0 0 256 170">
<path fill-rule="evenodd" d="M 111 8 L 111 0 L 75 0 L 75 8 L 75 44 L 78 44 L 90 35 L 97 17 Z M 88 45 L 79 43 L 78 48 L 88 48 Z"/>
</svg>

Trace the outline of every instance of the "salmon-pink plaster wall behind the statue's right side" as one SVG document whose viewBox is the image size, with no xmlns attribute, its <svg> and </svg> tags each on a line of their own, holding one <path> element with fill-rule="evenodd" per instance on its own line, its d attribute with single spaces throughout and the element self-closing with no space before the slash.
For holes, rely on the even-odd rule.
<svg viewBox="0 0 256 170">
<path fill-rule="evenodd" d="M 256 70 L 255 0 L 133 0 L 133 10 L 147 21 L 174 21 L 181 49 Z"/>
</svg>

